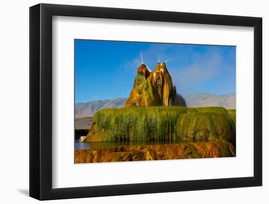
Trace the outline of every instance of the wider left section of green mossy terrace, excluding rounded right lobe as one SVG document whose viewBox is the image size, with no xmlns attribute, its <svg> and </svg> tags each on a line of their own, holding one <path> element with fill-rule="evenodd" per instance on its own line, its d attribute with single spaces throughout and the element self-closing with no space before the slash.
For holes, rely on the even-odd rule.
<svg viewBox="0 0 269 204">
<path fill-rule="evenodd" d="M 88 141 L 171 140 L 179 115 L 187 110 L 164 106 L 102 109 L 93 118 Z"/>
</svg>

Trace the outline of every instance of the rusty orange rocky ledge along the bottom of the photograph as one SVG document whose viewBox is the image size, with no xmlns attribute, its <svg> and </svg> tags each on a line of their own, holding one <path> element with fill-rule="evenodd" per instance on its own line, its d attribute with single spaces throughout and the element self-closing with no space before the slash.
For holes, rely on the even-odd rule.
<svg viewBox="0 0 269 204">
<path fill-rule="evenodd" d="M 235 157 L 227 141 L 134 145 L 75 151 L 75 163 Z"/>
</svg>

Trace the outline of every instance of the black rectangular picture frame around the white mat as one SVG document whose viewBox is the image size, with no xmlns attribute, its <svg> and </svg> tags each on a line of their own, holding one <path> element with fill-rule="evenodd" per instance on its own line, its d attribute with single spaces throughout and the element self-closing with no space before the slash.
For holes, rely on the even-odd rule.
<svg viewBox="0 0 269 204">
<path fill-rule="evenodd" d="M 52 188 L 52 16 L 254 27 L 254 176 Z M 262 18 L 58 4 L 30 7 L 30 197 L 38 200 L 262 185 Z"/>
</svg>

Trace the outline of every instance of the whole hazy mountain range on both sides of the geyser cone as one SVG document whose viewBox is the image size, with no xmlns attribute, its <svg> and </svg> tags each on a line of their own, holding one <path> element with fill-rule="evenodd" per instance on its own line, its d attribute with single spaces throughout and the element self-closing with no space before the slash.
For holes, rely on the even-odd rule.
<svg viewBox="0 0 269 204">
<path fill-rule="evenodd" d="M 216 95 L 204 92 L 195 92 L 182 95 L 189 108 L 193 107 L 224 107 L 235 109 L 235 93 Z M 122 108 L 128 98 L 115 98 L 112 100 L 97 100 L 75 104 L 75 118 L 93 117 L 100 109 Z"/>
</svg>

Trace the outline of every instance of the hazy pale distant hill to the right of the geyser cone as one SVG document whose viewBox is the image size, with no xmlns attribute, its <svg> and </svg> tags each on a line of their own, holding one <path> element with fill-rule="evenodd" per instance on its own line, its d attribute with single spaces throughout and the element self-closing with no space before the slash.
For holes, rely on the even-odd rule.
<svg viewBox="0 0 269 204">
<path fill-rule="evenodd" d="M 225 109 L 235 109 L 235 93 L 216 95 L 210 93 L 196 92 L 182 95 L 187 107 L 224 107 Z"/>
</svg>

